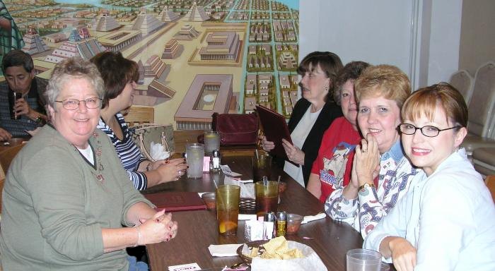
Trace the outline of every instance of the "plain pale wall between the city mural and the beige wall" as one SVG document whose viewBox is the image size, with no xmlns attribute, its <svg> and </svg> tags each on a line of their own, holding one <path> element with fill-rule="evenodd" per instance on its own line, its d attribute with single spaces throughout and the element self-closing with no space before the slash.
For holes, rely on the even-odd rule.
<svg viewBox="0 0 495 271">
<path fill-rule="evenodd" d="M 458 69 L 462 0 L 315 0 L 300 4 L 300 58 L 313 51 L 342 62 L 398 66 L 413 89 Z"/>
</svg>

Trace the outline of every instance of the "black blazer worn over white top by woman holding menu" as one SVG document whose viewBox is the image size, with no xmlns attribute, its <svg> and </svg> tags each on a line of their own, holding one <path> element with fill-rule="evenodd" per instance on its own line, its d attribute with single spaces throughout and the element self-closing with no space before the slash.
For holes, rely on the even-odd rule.
<svg viewBox="0 0 495 271">
<path fill-rule="evenodd" d="M 304 98 L 301 98 L 296 102 L 294 109 L 291 114 L 291 119 L 289 119 L 289 131 L 292 133 L 294 128 L 298 125 L 299 121 L 303 118 L 306 110 L 310 107 L 311 103 Z M 308 133 L 308 137 L 304 141 L 301 150 L 304 152 L 304 165 L 303 165 L 303 177 L 304 186 L 308 186 L 309 176 L 311 174 L 311 168 L 313 167 L 313 162 L 316 157 L 318 157 L 318 150 L 320 150 L 320 145 L 322 143 L 323 133 L 327 131 L 330 127 L 332 121 L 342 116 L 342 109 L 332 102 L 327 102 L 322 108 L 318 119 L 316 119 L 313 128 Z M 276 163 L 279 167 L 284 168 L 284 159 L 276 159 Z"/>
</svg>

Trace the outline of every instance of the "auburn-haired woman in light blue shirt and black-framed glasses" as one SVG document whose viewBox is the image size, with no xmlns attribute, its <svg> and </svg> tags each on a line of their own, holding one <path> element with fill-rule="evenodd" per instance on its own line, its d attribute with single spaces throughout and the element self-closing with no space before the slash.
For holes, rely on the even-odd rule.
<svg viewBox="0 0 495 271">
<path fill-rule="evenodd" d="M 414 92 L 402 107 L 402 145 L 414 166 L 409 193 L 364 242 L 397 270 L 495 270 L 495 207 L 459 149 L 467 106 L 447 83 Z"/>
</svg>

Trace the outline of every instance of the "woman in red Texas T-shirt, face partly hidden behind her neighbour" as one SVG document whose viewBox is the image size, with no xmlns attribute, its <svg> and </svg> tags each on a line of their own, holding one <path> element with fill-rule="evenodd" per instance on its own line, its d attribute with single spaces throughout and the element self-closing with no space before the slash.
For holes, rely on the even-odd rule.
<svg viewBox="0 0 495 271">
<path fill-rule="evenodd" d="M 368 66 L 363 61 L 350 62 L 337 77 L 333 99 L 342 108 L 344 116 L 335 119 L 323 134 L 307 187 L 322 203 L 332 191 L 346 186 L 351 179 L 354 147 L 361 140 L 356 122 L 358 107 L 354 98 L 354 80 Z"/>
</svg>

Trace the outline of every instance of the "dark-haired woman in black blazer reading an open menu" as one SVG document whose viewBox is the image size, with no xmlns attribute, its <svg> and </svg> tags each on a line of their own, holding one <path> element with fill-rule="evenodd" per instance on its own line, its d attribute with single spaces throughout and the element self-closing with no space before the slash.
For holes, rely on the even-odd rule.
<svg viewBox="0 0 495 271">
<path fill-rule="evenodd" d="M 310 53 L 298 66 L 303 97 L 294 106 L 289 119 L 294 145 L 283 140 L 287 157 L 297 166 L 287 161 L 279 164 L 284 164 L 284 171 L 304 187 L 308 185 L 323 133 L 334 119 L 342 116 L 342 110 L 332 100 L 335 79 L 341 68 L 339 56 L 331 52 Z M 267 138 L 261 139 L 263 150 L 269 151 L 275 147 Z"/>
</svg>

